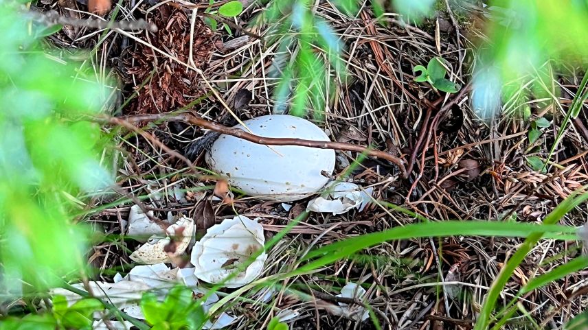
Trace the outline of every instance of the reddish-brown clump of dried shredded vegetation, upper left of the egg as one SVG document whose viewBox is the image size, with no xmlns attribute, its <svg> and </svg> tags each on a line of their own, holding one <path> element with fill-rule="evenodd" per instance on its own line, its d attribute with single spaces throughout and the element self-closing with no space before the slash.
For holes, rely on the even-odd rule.
<svg viewBox="0 0 588 330">
<path fill-rule="evenodd" d="M 196 18 L 191 41 L 187 14 L 171 5 L 159 6 L 148 21 L 157 25 L 158 32 L 144 32 L 141 38 L 148 45 L 137 43 L 125 63 L 130 75 L 126 83 L 133 84 L 138 94 L 127 110 L 129 114 L 165 113 L 203 96 L 205 88 L 199 75 L 179 62 L 205 69 L 212 52 L 222 47 L 218 36 L 200 18 Z"/>
</svg>

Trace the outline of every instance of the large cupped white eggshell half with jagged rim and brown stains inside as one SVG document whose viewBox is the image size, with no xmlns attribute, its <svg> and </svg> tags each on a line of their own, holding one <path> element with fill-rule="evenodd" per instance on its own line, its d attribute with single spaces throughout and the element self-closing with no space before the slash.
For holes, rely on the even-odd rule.
<svg viewBox="0 0 588 330">
<path fill-rule="evenodd" d="M 245 270 L 238 267 L 264 248 L 263 226 L 244 215 L 225 219 L 208 228 L 192 249 L 194 275 L 208 283 L 223 282 L 233 272 L 236 276 L 224 283 L 225 287 L 241 287 L 256 279 L 267 259 L 262 252 Z"/>
</svg>

